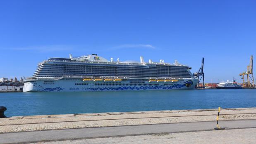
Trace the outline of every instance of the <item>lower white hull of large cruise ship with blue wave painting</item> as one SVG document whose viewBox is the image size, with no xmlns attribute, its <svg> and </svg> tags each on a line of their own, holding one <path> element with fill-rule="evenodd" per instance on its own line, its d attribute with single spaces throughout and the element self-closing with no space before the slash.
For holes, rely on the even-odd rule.
<svg viewBox="0 0 256 144">
<path fill-rule="evenodd" d="M 184 79 L 178 82 L 83 82 L 81 80 L 33 80 L 24 84 L 23 92 L 87 92 L 123 90 L 192 90 L 198 79 Z"/>
</svg>

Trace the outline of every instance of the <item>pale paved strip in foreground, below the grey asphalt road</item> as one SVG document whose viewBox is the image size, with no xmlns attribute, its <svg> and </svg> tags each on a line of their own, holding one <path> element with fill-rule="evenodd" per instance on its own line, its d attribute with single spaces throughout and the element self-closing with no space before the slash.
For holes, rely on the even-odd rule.
<svg viewBox="0 0 256 144">
<path fill-rule="evenodd" d="M 36 144 L 255 144 L 256 128 L 76 139 Z M 34 143 L 33 143 L 34 144 Z"/>
</svg>

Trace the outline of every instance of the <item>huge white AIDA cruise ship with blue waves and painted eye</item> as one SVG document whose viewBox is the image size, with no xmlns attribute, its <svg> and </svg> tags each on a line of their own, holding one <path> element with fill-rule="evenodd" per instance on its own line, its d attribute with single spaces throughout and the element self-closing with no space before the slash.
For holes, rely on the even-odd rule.
<svg viewBox="0 0 256 144">
<path fill-rule="evenodd" d="M 32 77 L 25 80 L 23 92 L 86 92 L 123 90 L 191 90 L 198 79 L 191 67 L 136 61 L 114 61 L 97 54 L 81 57 L 49 58 L 39 63 Z"/>
</svg>

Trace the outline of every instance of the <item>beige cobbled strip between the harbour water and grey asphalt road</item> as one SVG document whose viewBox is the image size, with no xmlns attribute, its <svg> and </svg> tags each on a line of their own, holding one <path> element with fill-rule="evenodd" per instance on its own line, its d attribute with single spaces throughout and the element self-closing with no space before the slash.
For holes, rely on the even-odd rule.
<svg viewBox="0 0 256 144">
<path fill-rule="evenodd" d="M 144 111 L 126 113 L 87 113 L 70 115 L 19 116 L 0 118 L 0 133 L 62 130 L 87 127 L 145 125 L 214 121 L 217 109 L 182 111 Z M 220 120 L 256 119 L 256 108 L 223 109 Z"/>
</svg>

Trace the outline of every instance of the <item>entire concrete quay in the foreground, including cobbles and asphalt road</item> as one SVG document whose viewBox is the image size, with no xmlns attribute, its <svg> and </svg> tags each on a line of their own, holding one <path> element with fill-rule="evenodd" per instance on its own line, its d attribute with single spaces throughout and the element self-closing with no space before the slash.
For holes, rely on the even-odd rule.
<svg viewBox="0 0 256 144">
<path fill-rule="evenodd" d="M 0 143 L 256 143 L 256 108 L 0 118 Z"/>
</svg>

